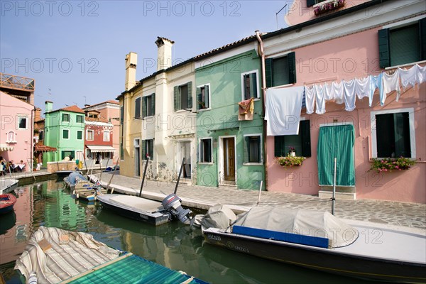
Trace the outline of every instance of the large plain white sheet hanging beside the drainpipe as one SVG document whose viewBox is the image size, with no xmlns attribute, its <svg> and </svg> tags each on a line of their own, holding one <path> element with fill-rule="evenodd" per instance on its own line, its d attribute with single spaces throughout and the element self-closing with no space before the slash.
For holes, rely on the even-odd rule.
<svg viewBox="0 0 426 284">
<path fill-rule="evenodd" d="M 305 87 L 266 89 L 266 133 L 268 136 L 297 135 Z M 306 100 L 307 101 L 307 100 Z"/>
</svg>

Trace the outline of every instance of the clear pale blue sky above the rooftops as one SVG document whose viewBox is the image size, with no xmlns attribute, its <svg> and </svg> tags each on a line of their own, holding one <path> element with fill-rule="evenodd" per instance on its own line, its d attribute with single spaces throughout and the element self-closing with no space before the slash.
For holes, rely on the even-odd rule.
<svg viewBox="0 0 426 284">
<path fill-rule="evenodd" d="M 275 31 L 285 1 L 4 1 L 1 72 L 35 79 L 35 106 L 96 104 L 124 91 L 124 58 L 138 53 L 136 79 L 155 72 L 157 36 L 186 60 L 254 31 Z M 285 10 L 278 28 L 285 27 Z M 49 90 L 50 89 L 50 90 Z"/>
</svg>

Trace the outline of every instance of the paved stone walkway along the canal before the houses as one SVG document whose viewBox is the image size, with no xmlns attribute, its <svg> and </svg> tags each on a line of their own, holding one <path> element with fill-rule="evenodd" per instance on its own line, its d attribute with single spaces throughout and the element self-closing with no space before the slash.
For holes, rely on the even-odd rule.
<svg viewBox="0 0 426 284">
<path fill-rule="evenodd" d="M 99 178 L 99 174 L 96 175 Z M 111 173 L 102 173 L 102 184 L 107 185 Z M 173 182 L 146 180 L 143 185 L 143 197 L 163 200 L 175 190 Z M 115 192 L 138 195 L 141 180 L 123 175 L 114 175 L 111 188 Z M 208 209 L 214 204 L 233 204 L 235 210 L 245 211 L 257 203 L 258 191 L 236 190 L 234 187 L 202 187 L 180 183 L 177 195 L 182 204 L 188 207 Z M 261 192 L 260 204 L 280 207 L 328 210 L 332 202 L 310 195 L 293 193 Z M 423 229 L 426 231 L 426 204 L 391 202 L 383 200 L 337 200 L 335 215 L 342 219 L 354 219 L 379 224 L 391 224 Z"/>
</svg>

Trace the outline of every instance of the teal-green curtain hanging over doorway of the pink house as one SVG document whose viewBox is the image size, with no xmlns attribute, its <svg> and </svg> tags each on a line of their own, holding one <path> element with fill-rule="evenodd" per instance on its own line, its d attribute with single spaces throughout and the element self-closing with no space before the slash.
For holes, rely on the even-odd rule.
<svg viewBox="0 0 426 284">
<path fill-rule="evenodd" d="M 337 186 L 355 186 L 355 130 L 353 125 L 322 126 L 318 138 L 317 163 L 320 185 L 333 185 L 337 158 Z"/>
</svg>

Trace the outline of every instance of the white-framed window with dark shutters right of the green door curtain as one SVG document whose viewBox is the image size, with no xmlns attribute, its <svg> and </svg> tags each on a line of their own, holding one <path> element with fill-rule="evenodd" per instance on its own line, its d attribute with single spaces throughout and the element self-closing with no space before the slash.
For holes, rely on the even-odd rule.
<svg viewBox="0 0 426 284">
<path fill-rule="evenodd" d="M 371 112 L 373 158 L 415 158 L 414 110 Z"/>
</svg>

